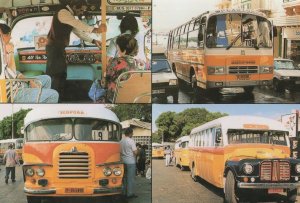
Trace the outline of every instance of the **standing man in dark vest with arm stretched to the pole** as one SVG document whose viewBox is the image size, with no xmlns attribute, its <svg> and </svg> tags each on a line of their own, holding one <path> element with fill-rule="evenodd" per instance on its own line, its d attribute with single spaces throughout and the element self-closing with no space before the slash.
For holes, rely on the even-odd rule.
<svg viewBox="0 0 300 203">
<path fill-rule="evenodd" d="M 60 2 L 61 8 L 54 14 L 48 33 L 46 45 L 46 73 L 50 75 L 52 79 L 52 88 L 57 90 L 62 97 L 64 96 L 65 82 L 67 79 L 65 48 L 69 45 L 71 32 L 73 31 L 79 38 L 87 40 L 84 33 L 102 33 L 106 32 L 107 28 L 105 24 L 101 24 L 99 28 L 95 28 L 75 18 L 75 16 L 79 16 L 80 18 L 80 16 L 86 12 L 86 1 L 60 0 Z M 76 30 L 74 28 L 76 28 Z M 99 41 L 91 40 L 90 42 L 100 47 Z"/>
</svg>

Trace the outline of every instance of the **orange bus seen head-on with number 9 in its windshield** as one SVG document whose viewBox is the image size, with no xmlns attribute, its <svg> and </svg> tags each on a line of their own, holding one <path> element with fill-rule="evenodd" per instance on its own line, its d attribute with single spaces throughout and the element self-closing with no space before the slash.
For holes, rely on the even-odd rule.
<svg viewBox="0 0 300 203">
<path fill-rule="evenodd" d="M 23 173 L 28 202 L 47 197 L 122 193 L 121 124 L 98 105 L 52 105 L 24 120 Z"/>
</svg>

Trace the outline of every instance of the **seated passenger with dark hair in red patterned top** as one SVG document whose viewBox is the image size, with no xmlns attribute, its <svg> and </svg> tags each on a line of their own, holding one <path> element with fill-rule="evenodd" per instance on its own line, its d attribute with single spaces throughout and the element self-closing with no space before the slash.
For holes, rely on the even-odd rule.
<svg viewBox="0 0 300 203">
<path fill-rule="evenodd" d="M 107 87 L 108 102 L 112 102 L 113 100 L 116 90 L 116 81 L 119 75 L 132 70 L 145 70 L 145 66 L 141 66 L 134 58 L 138 52 L 138 43 L 132 35 L 120 35 L 116 43 L 119 57 L 115 57 L 111 60 L 106 70 L 106 81 L 104 82 Z"/>
</svg>

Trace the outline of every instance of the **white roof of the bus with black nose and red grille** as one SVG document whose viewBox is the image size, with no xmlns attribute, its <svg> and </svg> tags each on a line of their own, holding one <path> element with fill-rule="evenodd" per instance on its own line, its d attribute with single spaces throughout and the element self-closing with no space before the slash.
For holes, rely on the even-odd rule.
<svg viewBox="0 0 300 203">
<path fill-rule="evenodd" d="M 220 125 L 225 129 L 288 131 L 279 121 L 270 118 L 257 116 L 225 116 L 192 129 L 191 134 Z"/>
</svg>

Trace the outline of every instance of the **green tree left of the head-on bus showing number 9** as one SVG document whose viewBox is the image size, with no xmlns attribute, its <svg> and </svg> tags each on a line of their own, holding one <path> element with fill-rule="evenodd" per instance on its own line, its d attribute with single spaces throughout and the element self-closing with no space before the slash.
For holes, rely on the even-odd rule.
<svg viewBox="0 0 300 203">
<path fill-rule="evenodd" d="M 23 137 L 21 128 L 24 126 L 24 118 L 31 109 L 21 109 L 13 115 L 14 138 Z M 12 138 L 12 116 L 7 116 L 0 121 L 0 139 Z"/>
</svg>

